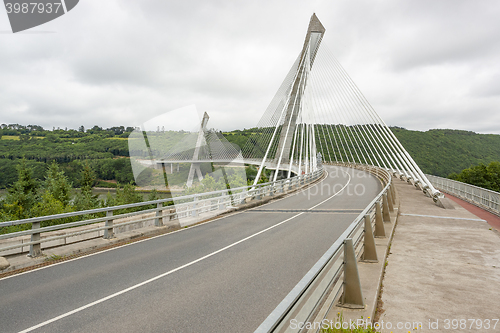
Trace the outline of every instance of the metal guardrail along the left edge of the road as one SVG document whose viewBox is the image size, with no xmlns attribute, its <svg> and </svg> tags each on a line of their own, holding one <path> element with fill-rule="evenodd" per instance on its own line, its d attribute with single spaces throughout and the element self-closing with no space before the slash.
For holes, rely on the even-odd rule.
<svg viewBox="0 0 500 333">
<path fill-rule="evenodd" d="M 41 244 L 45 242 L 51 242 L 54 240 L 59 240 L 62 238 L 79 236 L 86 233 L 92 233 L 96 231 L 104 231 L 103 238 L 109 239 L 114 235 L 115 227 L 122 227 L 129 224 L 137 224 L 144 221 L 150 221 L 154 219 L 155 226 L 163 226 L 163 222 L 165 218 L 169 220 L 176 220 L 186 217 L 197 217 L 200 213 L 210 212 L 215 210 L 224 210 L 231 206 L 236 206 L 246 201 L 247 198 L 251 200 L 260 200 L 265 195 L 274 195 L 275 193 L 284 193 L 287 190 L 291 190 L 293 188 L 301 187 L 305 184 L 311 183 L 318 179 L 323 174 L 323 170 L 317 170 L 314 173 L 296 176 L 288 179 L 278 180 L 276 182 L 268 182 L 263 184 L 257 184 L 255 186 L 243 186 L 231 190 L 220 190 L 206 193 L 199 193 L 187 196 L 180 196 L 176 198 L 167 198 L 167 199 L 159 199 L 155 201 L 146 201 L 139 202 L 121 206 L 113 206 L 113 207 L 104 207 L 98 209 L 90 209 L 78 212 L 57 214 L 57 215 L 48 215 L 41 217 L 34 217 L 23 220 L 15 220 L 8 222 L 0 222 L 0 227 L 14 226 L 14 225 L 22 225 L 31 223 L 30 230 L 18 231 L 8 234 L 0 235 L 0 240 L 11 239 L 14 237 L 31 235 L 30 242 L 18 243 L 6 247 L 0 248 L 0 255 L 2 252 L 22 248 L 26 246 L 30 246 L 29 256 L 36 257 L 41 255 Z M 175 200 L 175 206 L 172 205 Z M 167 204 L 167 205 L 165 205 Z M 138 208 L 138 207 L 147 207 L 147 206 L 156 206 L 156 208 L 150 208 L 146 210 L 140 210 L 132 213 L 124 213 L 114 215 L 114 212 L 122 209 L 128 208 Z M 136 215 L 143 215 L 145 213 L 153 213 L 151 217 L 133 219 L 132 221 L 114 224 L 114 220 L 119 218 L 128 218 L 134 217 Z M 105 214 L 104 217 L 91 218 L 82 221 L 69 222 L 63 224 L 57 224 L 47 227 L 40 227 L 40 223 L 43 221 L 51 221 L 58 220 L 63 218 L 70 217 L 78 217 L 92 214 Z M 104 226 L 86 229 L 77 232 L 71 232 L 72 227 L 84 226 L 99 222 L 105 222 Z M 42 238 L 41 234 L 50 231 L 69 229 L 68 233 L 64 235 L 58 235 L 53 237 Z"/>
</svg>

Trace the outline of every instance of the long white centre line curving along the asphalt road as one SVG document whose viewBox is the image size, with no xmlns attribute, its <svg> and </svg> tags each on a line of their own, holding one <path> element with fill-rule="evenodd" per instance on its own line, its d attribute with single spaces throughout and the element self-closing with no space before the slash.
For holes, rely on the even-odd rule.
<svg viewBox="0 0 500 333">
<path fill-rule="evenodd" d="M 349 179 L 348 179 L 347 183 L 344 185 L 344 187 L 342 187 L 342 189 L 340 189 L 338 192 L 334 193 L 332 196 L 328 197 L 327 199 L 323 200 L 323 201 L 322 201 L 322 202 L 320 202 L 319 204 L 314 205 L 313 207 L 309 208 L 308 210 L 311 210 L 311 209 L 314 209 L 314 208 L 318 207 L 319 205 L 321 205 L 321 204 L 323 204 L 323 203 L 327 202 L 328 200 L 332 199 L 333 197 L 335 197 L 335 196 L 337 196 L 339 193 L 341 193 L 341 192 L 342 192 L 342 191 L 343 191 L 343 190 L 344 190 L 344 189 L 345 189 L 345 188 L 349 185 L 349 183 L 350 183 L 350 181 L 351 181 L 351 176 L 349 175 L 349 173 L 345 173 L 345 174 L 347 174 L 347 175 L 349 176 Z M 31 332 L 31 331 L 33 331 L 33 330 L 36 330 L 37 328 L 40 328 L 40 327 L 46 326 L 46 325 L 48 325 L 48 324 L 50 324 L 50 323 L 53 323 L 53 322 L 55 322 L 55 321 L 58 321 L 58 320 L 60 320 L 60 319 L 63 319 L 63 318 L 68 317 L 68 316 L 71 316 L 72 314 L 75 314 L 75 313 L 78 313 L 78 312 L 83 311 L 83 310 L 85 310 L 85 309 L 88 309 L 88 308 L 90 308 L 90 307 L 92 307 L 92 306 L 94 306 L 94 305 L 100 304 L 100 303 L 105 302 L 105 301 L 107 301 L 107 300 L 109 300 L 109 299 L 115 298 L 115 297 L 120 296 L 120 295 L 122 295 L 122 294 L 125 294 L 125 293 L 127 293 L 127 292 L 129 292 L 129 291 L 132 291 L 132 290 L 134 290 L 134 289 L 137 289 L 137 288 L 139 288 L 139 287 L 142 287 L 142 286 L 144 286 L 144 285 L 146 285 L 146 284 L 149 284 L 149 283 L 151 283 L 151 282 L 153 282 L 153 281 L 156 281 L 156 280 L 158 280 L 158 279 L 161 279 L 161 278 L 163 278 L 163 277 L 165 277 L 165 276 L 167 276 L 167 275 L 170 275 L 170 274 L 172 274 L 172 273 L 175 273 L 175 272 L 177 272 L 177 271 L 179 271 L 179 270 L 181 270 L 181 269 L 183 269 L 183 268 L 189 267 L 189 266 L 194 265 L 194 264 L 196 264 L 196 263 L 198 263 L 198 262 L 200 262 L 200 261 L 202 261 L 202 260 L 205 260 L 205 259 L 207 259 L 207 258 L 210 258 L 210 257 L 212 257 L 212 256 L 214 256 L 214 255 L 216 255 L 216 254 L 218 254 L 218 253 L 220 253 L 220 252 L 223 252 L 223 251 L 225 251 L 225 250 L 227 250 L 227 249 L 230 249 L 230 248 L 232 248 L 233 246 L 236 246 L 236 245 L 238 245 L 238 244 L 240 244 L 240 243 L 243 243 L 243 242 L 245 242 L 245 241 L 247 241 L 247 240 L 249 240 L 249 239 L 251 239 L 251 238 L 254 238 L 255 236 L 258 236 L 258 235 L 260 235 L 260 234 L 262 234 L 262 233 L 264 233 L 264 232 L 266 232 L 266 231 L 269 231 L 269 230 L 271 230 L 271 229 L 274 229 L 274 228 L 276 228 L 277 226 L 280 226 L 280 225 L 282 225 L 282 224 L 284 224 L 284 223 L 286 223 L 286 222 L 288 222 L 288 221 L 291 221 L 291 220 L 293 220 L 294 218 L 299 217 L 300 215 L 303 215 L 303 214 L 305 214 L 305 213 L 299 213 L 299 214 L 297 214 L 297 215 L 294 215 L 294 216 L 292 216 L 292 217 L 290 217 L 290 218 L 288 218 L 288 219 L 286 219 L 286 220 L 284 220 L 284 221 L 281 221 L 281 222 L 279 222 L 279 223 L 277 223 L 277 224 L 275 224 L 275 225 L 273 225 L 273 226 L 271 226 L 271 227 L 269 227 L 269 228 L 266 228 L 266 229 L 261 230 L 261 231 L 259 231 L 259 232 L 255 233 L 255 234 L 253 234 L 253 235 L 250 235 L 250 236 L 248 236 L 248 237 L 245 237 L 245 238 L 243 238 L 243 239 L 241 239 L 241 240 L 239 240 L 239 241 L 237 241 L 237 242 L 234 242 L 234 243 L 232 243 L 232 244 L 230 244 L 230 245 L 227 245 L 227 246 L 225 246 L 225 247 L 223 247 L 223 248 L 221 248 L 221 249 L 219 249 L 219 250 L 217 250 L 217 251 L 214 251 L 214 252 L 212 252 L 212 253 L 209 253 L 209 254 L 207 254 L 207 255 L 205 255 L 205 256 L 203 256 L 203 257 L 201 257 L 201 258 L 198 258 L 198 259 L 196 259 L 196 260 L 193 260 L 193 261 L 191 261 L 191 262 L 189 262 L 189 263 L 187 263 L 187 264 L 185 264 L 185 265 L 182 265 L 182 266 L 179 266 L 179 267 L 177 267 L 177 268 L 174 268 L 174 269 L 172 269 L 172 270 L 170 270 L 170 271 L 168 271 L 168 272 L 165 272 L 165 273 L 163 273 L 163 274 L 157 275 L 157 276 L 155 276 L 155 277 L 153 277 L 153 278 L 151 278 L 151 279 L 149 279 L 149 280 L 143 281 L 143 282 L 141 282 L 141 283 L 138 283 L 138 284 L 133 285 L 133 286 L 131 286 L 131 287 L 128 287 L 128 288 L 126 288 L 126 289 L 120 290 L 120 291 L 118 291 L 118 292 L 116 292 L 116 293 L 114 293 L 114 294 L 111 294 L 111 295 L 106 296 L 106 297 L 104 297 L 104 298 L 98 299 L 97 301 L 94 301 L 94 302 L 92 302 L 92 303 L 86 304 L 86 305 L 81 306 L 81 307 L 79 307 L 79 308 L 77 308 L 77 309 L 74 309 L 74 310 L 72 310 L 72 311 L 69 311 L 69 312 L 63 313 L 63 314 L 62 314 L 62 315 L 60 315 L 60 316 L 57 316 L 57 317 L 54 317 L 54 318 L 49 319 L 49 320 L 47 320 L 47 321 L 44 321 L 44 322 L 42 322 L 42 323 L 40 323 L 40 324 L 38 324 L 38 325 L 35 325 L 35 326 L 32 326 L 32 327 L 29 327 L 29 328 L 27 328 L 27 329 L 25 329 L 25 330 L 23 330 L 23 331 L 20 331 L 19 333 L 27 333 L 27 332 Z"/>
</svg>

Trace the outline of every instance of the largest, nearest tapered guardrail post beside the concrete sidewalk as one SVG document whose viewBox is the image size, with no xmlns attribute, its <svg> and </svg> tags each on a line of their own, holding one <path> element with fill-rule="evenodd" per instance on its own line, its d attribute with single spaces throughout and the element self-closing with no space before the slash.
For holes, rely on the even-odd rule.
<svg viewBox="0 0 500 333">
<path fill-rule="evenodd" d="M 351 238 L 344 240 L 344 293 L 342 294 L 342 306 L 352 309 L 365 308 L 356 253 Z"/>
</svg>

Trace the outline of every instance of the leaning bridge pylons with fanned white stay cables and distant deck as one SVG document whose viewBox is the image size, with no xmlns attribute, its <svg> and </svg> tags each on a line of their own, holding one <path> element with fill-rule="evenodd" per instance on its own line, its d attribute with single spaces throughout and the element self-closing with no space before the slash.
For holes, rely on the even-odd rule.
<svg viewBox="0 0 500 333">
<path fill-rule="evenodd" d="M 314 172 L 322 161 L 363 164 L 388 170 L 438 200 L 441 193 L 322 45 L 325 31 L 313 14 L 299 56 L 241 151 L 207 130 L 205 113 L 196 145 L 155 156 L 153 164 L 191 163 L 188 187 L 195 174 L 203 179 L 204 162 L 258 165 L 254 185 L 265 168 L 276 181 Z"/>
</svg>

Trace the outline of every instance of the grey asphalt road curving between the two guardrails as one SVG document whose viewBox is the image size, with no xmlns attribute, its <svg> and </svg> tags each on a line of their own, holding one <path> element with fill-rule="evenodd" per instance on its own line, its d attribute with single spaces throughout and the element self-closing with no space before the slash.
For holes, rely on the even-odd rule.
<svg viewBox="0 0 500 333">
<path fill-rule="evenodd" d="M 245 212 L 4 278 L 0 331 L 253 332 L 381 190 L 327 171 Z"/>
</svg>

